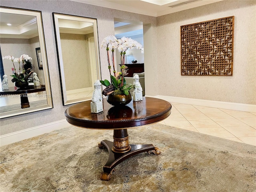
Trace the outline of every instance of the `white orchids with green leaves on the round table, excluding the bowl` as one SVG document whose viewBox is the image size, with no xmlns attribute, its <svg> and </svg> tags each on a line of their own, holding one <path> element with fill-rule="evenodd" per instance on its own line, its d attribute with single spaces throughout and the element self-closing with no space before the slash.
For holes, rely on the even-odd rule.
<svg viewBox="0 0 256 192">
<path fill-rule="evenodd" d="M 126 76 L 128 67 L 124 65 L 125 62 L 125 54 L 128 49 L 142 49 L 142 45 L 138 43 L 137 41 L 127 38 L 127 37 L 122 37 L 121 39 L 117 39 L 115 36 L 110 35 L 104 38 L 101 44 L 101 48 L 106 48 L 107 51 L 107 59 L 108 59 L 108 70 L 110 73 L 110 79 L 111 79 L 111 84 L 108 80 L 100 81 L 102 85 L 106 86 L 106 88 L 103 90 L 102 94 L 105 96 L 109 94 L 129 94 L 129 90 L 133 88 L 134 86 L 131 84 L 128 87 L 126 86 L 126 81 L 124 76 Z M 116 72 L 116 66 L 115 66 L 115 61 L 114 61 L 114 51 L 118 50 L 120 52 L 120 62 L 121 62 L 121 72 Z M 109 51 L 111 50 L 111 59 L 110 59 L 110 54 Z M 110 61 L 112 65 L 110 64 Z M 112 75 L 112 66 L 113 66 L 113 75 Z"/>
</svg>

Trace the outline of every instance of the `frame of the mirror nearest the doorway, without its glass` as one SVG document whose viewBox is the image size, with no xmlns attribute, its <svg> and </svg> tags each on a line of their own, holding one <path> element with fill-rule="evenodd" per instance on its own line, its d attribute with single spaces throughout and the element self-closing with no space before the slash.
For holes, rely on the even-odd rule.
<svg viewBox="0 0 256 192">
<path fill-rule="evenodd" d="M 94 35 L 94 45 L 95 45 L 95 55 L 96 55 L 97 78 L 100 80 L 101 72 L 100 72 L 100 54 L 99 54 L 97 19 L 87 18 L 87 17 L 82 17 L 82 16 L 68 15 L 68 14 L 60 14 L 60 13 L 52 13 L 52 16 L 53 16 L 53 20 L 54 20 L 54 32 L 55 32 L 59 72 L 60 72 L 62 104 L 65 106 L 65 105 L 69 105 L 69 104 L 74 104 L 74 103 L 78 103 L 78 102 L 91 100 L 92 98 L 88 98 L 88 97 L 67 100 L 66 83 L 65 83 L 65 76 L 64 76 L 64 65 L 63 65 L 63 58 L 62 58 L 62 49 L 61 49 L 61 42 L 60 42 L 60 30 L 59 30 L 58 19 L 75 20 L 75 21 L 92 23 L 93 35 Z M 93 84 L 94 84 L 94 82 L 92 81 L 92 88 L 94 88 Z"/>
</svg>

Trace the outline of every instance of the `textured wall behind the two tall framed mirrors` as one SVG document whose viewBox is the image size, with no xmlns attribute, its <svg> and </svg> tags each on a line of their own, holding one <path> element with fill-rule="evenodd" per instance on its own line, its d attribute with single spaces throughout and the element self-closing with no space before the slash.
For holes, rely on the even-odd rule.
<svg viewBox="0 0 256 192">
<path fill-rule="evenodd" d="M 100 43 L 102 42 L 104 37 L 110 34 L 114 35 L 114 18 L 142 21 L 145 24 L 152 23 L 152 25 L 154 26 L 154 34 L 152 35 L 152 38 L 156 39 L 156 18 L 151 16 L 133 14 L 129 12 L 123 12 L 66 0 L 40 0 L 33 1 L 33 3 L 32 1 L 23 0 L 1 0 L 1 6 L 40 10 L 42 12 L 42 21 L 44 27 L 46 53 L 49 66 L 54 108 L 1 119 L 0 135 L 65 119 L 64 112 L 66 108 L 68 108 L 70 105 L 62 105 L 60 76 L 58 70 L 52 12 L 97 18 L 98 36 Z M 154 61 L 156 62 L 156 59 Z M 106 60 L 106 50 L 104 49 L 100 49 L 100 63 L 102 70 L 102 79 L 109 78 L 107 67 L 108 64 Z"/>
</svg>

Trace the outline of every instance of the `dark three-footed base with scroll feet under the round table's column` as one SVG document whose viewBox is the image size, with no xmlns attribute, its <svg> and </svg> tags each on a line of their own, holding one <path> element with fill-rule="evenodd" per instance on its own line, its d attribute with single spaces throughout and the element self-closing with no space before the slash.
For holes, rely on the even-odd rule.
<svg viewBox="0 0 256 192">
<path fill-rule="evenodd" d="M 114 148 L 114 142 L 103 140 L 98 144 L 99 148 L 107 148 L 109 154 L 108 161 L 103 167 L 103 173 L 100 175 L 101 180 L 109 181 L 112 172 L 115 171 L 115 167 L 131 156 L 140 154 L 142 152 L 148 152 L 148 154 L 156 155 L 159 155 L 161 153 L 160 150 L 157 147 L 153 146 L 152 144 L 129 146 L 129 152 L 113 152 L 112 148 Z"/>
</svg>

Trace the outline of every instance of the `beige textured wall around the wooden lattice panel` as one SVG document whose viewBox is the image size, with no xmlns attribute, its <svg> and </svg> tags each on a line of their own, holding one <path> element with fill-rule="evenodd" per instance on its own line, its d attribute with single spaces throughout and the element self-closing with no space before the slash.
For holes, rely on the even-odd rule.
<svg viewBox="0 0 256 192">
<path fill-rule="evenodd" d="M 180 26 L 235 16 L 233 76 L 181 76 Z M 223 1 L 157 18 L 158 94 L 256 104 L 256 1 Z"/>
</svg>

